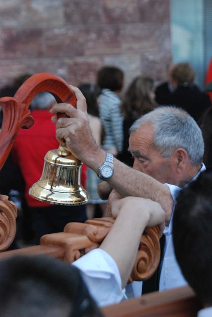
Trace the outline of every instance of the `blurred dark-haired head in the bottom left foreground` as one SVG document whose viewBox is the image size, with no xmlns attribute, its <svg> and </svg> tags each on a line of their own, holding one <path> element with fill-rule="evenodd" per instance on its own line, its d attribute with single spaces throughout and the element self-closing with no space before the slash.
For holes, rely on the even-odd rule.
<svg viewBox="0 0 212 317">
<path fill-rule="evenodd" d="M 102 317 L 80 271 L 44 256 L 0 261 L 1 317 Z"/>
</svg>

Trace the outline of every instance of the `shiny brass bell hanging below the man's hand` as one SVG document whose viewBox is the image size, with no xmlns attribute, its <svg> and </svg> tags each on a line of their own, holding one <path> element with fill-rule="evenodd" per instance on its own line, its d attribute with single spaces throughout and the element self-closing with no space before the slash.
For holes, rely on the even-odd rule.
<svg viewBox="0 0 212 317">
<path fill-rule="evenodd" d="M 65 148 L 49 151 L 45 156 L 40 180 L 29 194 L 42 202 L 56 205 L 84 205 L 88 194 L 81 185 L 82 162 Z"/>
</svg>

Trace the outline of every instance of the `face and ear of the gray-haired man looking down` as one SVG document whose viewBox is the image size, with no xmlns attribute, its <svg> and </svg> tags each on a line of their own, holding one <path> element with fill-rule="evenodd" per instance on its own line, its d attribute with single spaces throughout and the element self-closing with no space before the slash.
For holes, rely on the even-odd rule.
<svg viewBox="0 0 212 317">
<path fill-rule="evenodd" d="M 129 150 L 134 158 L 133 168 L 157 179 L 161 183 L 178 185 L 174 159 L 163 158 L 153 144 L 154 130 L 145 123 L 129 138 Z"/>
</svg>

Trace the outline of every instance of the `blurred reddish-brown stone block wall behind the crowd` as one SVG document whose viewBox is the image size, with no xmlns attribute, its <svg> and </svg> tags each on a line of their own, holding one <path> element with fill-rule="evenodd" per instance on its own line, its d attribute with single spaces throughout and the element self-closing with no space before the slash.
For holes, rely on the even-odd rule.
<svg viewBox="0 0 212 317">
<path fill-rule="evenodd" d="M 72 85 L 103 65 L 164 80 L 171 60 L 170 0 L 0 0 L 0 88 L 23 73 Z"/>
</svg>

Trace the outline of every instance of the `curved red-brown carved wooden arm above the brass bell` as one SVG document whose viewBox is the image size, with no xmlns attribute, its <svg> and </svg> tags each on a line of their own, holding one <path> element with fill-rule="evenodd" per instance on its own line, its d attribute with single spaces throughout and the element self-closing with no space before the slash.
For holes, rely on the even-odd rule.
<svg viewBox="0 0 212 317">
<path fill-rule="evenodd" d="M 51 73 L 38 73 L 28 78 L 17 90 L 14 97 L 0 98 L 3 110 L 3 123 L 0 132 L 0 168 L 7 159 L 18 130 L 30 128 L 33 117 L 28 109 L 38 93 L 47 91 L 57 101 L 76 107 L 76 97 L 70 86 L 59 76 Z"/>
</svg>

